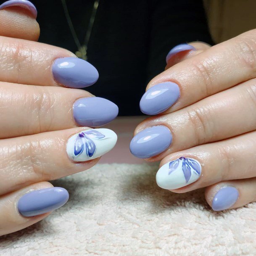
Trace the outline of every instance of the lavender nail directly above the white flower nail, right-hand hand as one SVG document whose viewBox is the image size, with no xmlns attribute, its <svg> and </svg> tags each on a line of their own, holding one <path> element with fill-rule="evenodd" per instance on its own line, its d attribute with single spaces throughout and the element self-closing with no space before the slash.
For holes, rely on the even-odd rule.
<svg viewBox="0 0 256 256">
<path fill-rule="evenodd" d="M 138 158 L 149 158 L 162 153 L 172 143 L 170 130 L 163 126 L 153 126 L 142 130 L 132 138 L 131 153 Z"/>
</svg>

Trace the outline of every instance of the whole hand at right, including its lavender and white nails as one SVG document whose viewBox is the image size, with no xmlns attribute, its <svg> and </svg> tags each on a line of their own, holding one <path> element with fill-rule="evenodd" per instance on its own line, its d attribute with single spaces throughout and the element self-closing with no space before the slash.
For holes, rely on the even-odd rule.
<svg viewBox="0 0 256 256">
<path fill-rule="evenodd" d="M 256 201 L 255 78 L 256 30 L 213 47 L 172 50 L 140 102 L 157 116 L 136 128 L 130 144 L 135 156 L 161 160 L 160 187 L 206 187 L 216 211 Z"/>
</svg>

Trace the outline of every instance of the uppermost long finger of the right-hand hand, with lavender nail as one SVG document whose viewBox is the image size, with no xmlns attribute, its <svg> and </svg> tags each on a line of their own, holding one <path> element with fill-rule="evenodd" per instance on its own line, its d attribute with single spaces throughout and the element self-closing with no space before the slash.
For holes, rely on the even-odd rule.
<svg viewBox="0 0 256 256">
<path fill-rule="evenodd" d="M 143 112 L 173 112 L 255 78 L 255 38 L 256 30 L 251 30 L 159 74 L 148 84 L 147 90 L 152 89 L 149 95 L 146 92 L 146 96 L 143 96 L 147 101 L 141 103 L 144 106 Z M 152 104 L 155 106 L 153 110 Z M 146 106 L 149 106 L 148 110 Z"/>
</svg>

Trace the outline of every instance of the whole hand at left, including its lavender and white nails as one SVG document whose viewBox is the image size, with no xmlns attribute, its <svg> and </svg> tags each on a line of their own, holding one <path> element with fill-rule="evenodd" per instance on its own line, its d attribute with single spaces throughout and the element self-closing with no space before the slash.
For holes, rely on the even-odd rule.
<svg viewBox="0 0 256 256">
<path fill-rule="evenodd" d="M 111 130 L 87 126 L 108 123 L 117 106 L 65 88 L 95 83 L 98 71 L 67 50 L 34 42 L 36 9 L 20 2 L 0 6 L 0 235 L 61 207 L 68 192 L 47 181 L 91 168 L 116 143 Z"/>
</svg>

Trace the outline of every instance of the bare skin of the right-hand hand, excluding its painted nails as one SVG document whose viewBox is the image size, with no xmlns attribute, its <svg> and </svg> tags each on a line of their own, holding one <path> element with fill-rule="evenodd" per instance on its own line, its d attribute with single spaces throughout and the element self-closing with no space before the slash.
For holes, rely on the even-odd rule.
<svg viewBox="0 0 256 256">
<path fill-rule="evenodd" d="M 179 85 L 181 96 L 165 112 L 151 116 L 135 129 L 165 125 L 172 145 L 147 161 L 160 167 L 181 156 L 197 159 L 201 177 L 171 190 L 185 193 L 206 187 L 211 206 L 220 188 L 234 186 L 239 198 L 231 208 L 256 201 L 256 30 L 210 47 L 192 42 L 196 50 L 179 53 L 146 90 L 160 82 Z"/>
</svg>

